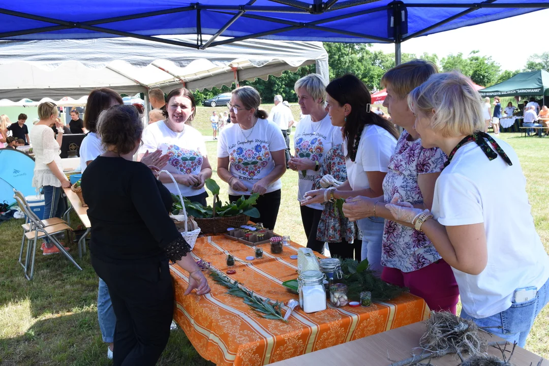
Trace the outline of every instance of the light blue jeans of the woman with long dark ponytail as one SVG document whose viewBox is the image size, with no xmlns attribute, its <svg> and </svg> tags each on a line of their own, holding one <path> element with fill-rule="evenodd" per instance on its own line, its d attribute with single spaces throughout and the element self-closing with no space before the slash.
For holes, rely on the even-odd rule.
<svg viewBox="0 0 549 366">
<path fill-rule="evenodd" d="M 362 233 L 362 260 L 367 259 L 369 266 L 381 276 L 381 244 L 383 241 L 383 224 L 385 220 L 380 217 L 366 217 L 356 222 Z"/>
</svg>

